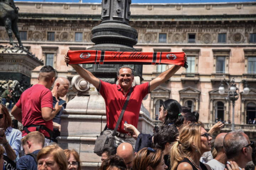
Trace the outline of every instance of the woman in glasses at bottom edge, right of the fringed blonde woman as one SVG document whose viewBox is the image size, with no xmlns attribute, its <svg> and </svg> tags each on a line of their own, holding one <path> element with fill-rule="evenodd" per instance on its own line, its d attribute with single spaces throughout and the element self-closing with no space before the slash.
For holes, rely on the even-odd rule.
<svg viewBox="0 0 256 170">
<path fill-rule="evenodd" d="M 67 168 L 72 170 L 80 170 L 81 166 L 79 153 L 77 153 L 74 149 L 66 149 L 64 150 L 64 153 L 67 157 Z"/>
</svg>

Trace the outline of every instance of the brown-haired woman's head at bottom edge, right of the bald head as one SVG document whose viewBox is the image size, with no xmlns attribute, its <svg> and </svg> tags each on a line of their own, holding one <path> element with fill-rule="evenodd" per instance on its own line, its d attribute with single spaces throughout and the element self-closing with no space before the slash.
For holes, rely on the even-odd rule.
<svg viewBox="0 0 256 170">
<path fill-rule="evenodd" d="M 160 149 L 143 148 L 134 158 L 133 170 L 164 170 L 168 167 L 164 164 L 163 151 Z"/>
</svg>

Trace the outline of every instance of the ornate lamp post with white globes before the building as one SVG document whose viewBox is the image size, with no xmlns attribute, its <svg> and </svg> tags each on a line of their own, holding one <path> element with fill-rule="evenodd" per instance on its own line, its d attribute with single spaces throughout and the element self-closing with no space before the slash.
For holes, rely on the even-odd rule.
<svg viewBox="0 0 256 170">
<path fill-rule="evenodd" d="M 230 85 L 229 85 L 228 81 L 226 81 L 226 79 L 224 79 L 223 81 L 221 81 L 221 84 L 220 84 L 220 87 L 219 87 L 219 93 L 220 94 L 224 94 L 224 92 L 225 92 L 224 84 L 223 83 L 228 84 L 228 96 L 226 97 L 226 99 L 232 101 L 232 107 L 233 107 L 233 112 L 232 112 L 232 131 L 234 131 L 234 106 L 235 106 L 236 100 L 239 99 L 239 86 L 240 86 L 241 83 L 244 84 L 244 91 L 243 91 L 243 93 L 245 95 L 249 94 L 250 89 L 249 89 L 249 87 L 247 85 L 247 82 L 245 80 L 242 80 L 239 83 L 239 86 L 237 88 L 236 84 L 234 83 L 234 78 L 232 79 Z M 237 90 L 238 90 L 238 93 L 237 93 Z"/>
</svg>

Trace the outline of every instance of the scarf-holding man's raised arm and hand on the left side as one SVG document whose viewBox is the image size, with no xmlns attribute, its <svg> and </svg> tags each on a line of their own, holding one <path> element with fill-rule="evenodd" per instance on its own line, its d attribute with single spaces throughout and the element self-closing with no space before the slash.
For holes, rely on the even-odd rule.
<svg viewBox="0 0 256 170">
<path fill-rule="evenodd" d="M 69 63 L 69 56 L 65 55 L 65 62 Z M 93 84 L 96 89 L 100 88 L 100 79 L 96 78 L 90 71 L 85 70 L 80 65 L 70 64 L 79 75 L 89 83 Z"/>
</svg>

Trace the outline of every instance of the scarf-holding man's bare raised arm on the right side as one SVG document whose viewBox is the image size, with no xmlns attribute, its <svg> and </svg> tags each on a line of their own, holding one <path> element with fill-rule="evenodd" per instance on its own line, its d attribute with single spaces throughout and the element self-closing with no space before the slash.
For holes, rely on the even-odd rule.
<svg viewBox="0 0 256 170">
<path fill-rule="evenodd" d="M 171 76 L 173 76 L 177 70 L 179 70 L 181 66 L 174 65 L 173 67 L 169 68 L 168 70 L 161 73 L 157 78 L 152 79 L 150 81 L 150 92 L 153 91 L 157 86 L 160 86 L 160 84 L 164 83 L 164 81 L 167 81 Z"/>
</svg>

